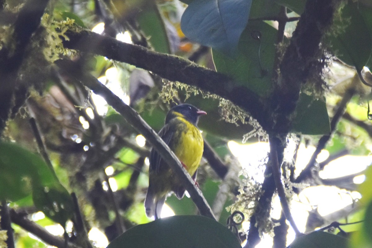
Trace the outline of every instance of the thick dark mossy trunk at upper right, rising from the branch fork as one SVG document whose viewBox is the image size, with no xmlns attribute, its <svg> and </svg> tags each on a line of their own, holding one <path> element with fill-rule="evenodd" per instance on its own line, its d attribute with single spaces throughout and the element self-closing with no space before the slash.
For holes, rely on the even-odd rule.
<svg viewBox="0 0 372 248">
<path fill-rule="evenodd" d="M 333 20 L 338 0 L 308 0 L 296 30 L 280 63 L 280 77 L 272 92 L 272 109 L 276 113 L 273 130 L 288 133 L 302 85 L 323 54 L 320 43 Z M 317 72 L 321 73 L 321 71 Z"/>
</svg>

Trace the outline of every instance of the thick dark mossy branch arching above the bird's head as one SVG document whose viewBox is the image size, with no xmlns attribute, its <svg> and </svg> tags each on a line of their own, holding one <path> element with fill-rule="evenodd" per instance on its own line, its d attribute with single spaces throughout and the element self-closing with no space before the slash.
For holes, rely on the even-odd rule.
<svg viewBox="0 0 372 248">
<path fill-rule="evenodd" d="M 65 35 L 69 38 L 69 41 L 63 42 L 66 48 L 102 55 L 151 71 L 171 81 L 196 86 L 242 107 L 264 129 L 271 126 L 265 113 L 267 108 L 264 105 L 264 99 L 246 87 L 236 86 L 224 74 L 203 68 L 181 57 L 161 54 L 142 46 L 124 43 L 90 31 L 68 30 Z"/>
</svg>

